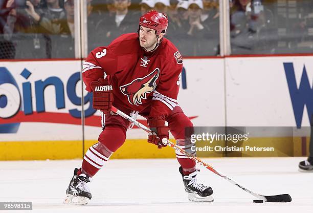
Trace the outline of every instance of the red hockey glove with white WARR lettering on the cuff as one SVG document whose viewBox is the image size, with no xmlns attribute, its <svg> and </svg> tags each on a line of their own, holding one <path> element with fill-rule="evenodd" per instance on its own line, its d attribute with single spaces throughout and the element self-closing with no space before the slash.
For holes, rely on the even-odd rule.
<svg viewBox="0 0 313 213">
<path fill-rule="evenodd" d="M 93 108 L 100 110 L 104 114 L 111 111 L 113 103 L 113 88 L 107 79 L 99 78 L 98 81 L 92 81 L 90 86 L 94 93 Z"/>
</svg>

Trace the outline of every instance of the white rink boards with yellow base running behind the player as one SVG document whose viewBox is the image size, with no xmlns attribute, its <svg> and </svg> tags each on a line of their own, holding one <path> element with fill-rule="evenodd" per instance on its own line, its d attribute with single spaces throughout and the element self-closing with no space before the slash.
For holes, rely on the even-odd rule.
<svg viewBox="0 0 313 213">
<path fill-rule="evenodd" d="M 195 126 L 309 126 L 312 59 L 185 59 L 178 103 Z M 97 142 L 101 114 L 92 109 L 91 95 L 82 90 L 80 70 L 80 60 L 0 63 L 0 160 L 81 158 Z M 81 97 L 85 99 L 84 132 Z M 138 119 L 145 123 L 144 118 Z M 288 145 L 281 137 L 262 137 L 255 141 L 276 141 L 281 152 L 270 156 L 308 153 L 308 135 Z M 175 156 L 169 148 L 157 152 L 139 129 L 128 130 L 127 138 L 115 158 Z M 208 157 L 222 156 L 225 154 L 211 153 Z"/>
</svg>

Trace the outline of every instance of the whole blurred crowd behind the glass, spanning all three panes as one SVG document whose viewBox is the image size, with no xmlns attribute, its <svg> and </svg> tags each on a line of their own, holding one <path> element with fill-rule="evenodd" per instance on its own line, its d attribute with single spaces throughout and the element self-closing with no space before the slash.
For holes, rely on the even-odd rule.
<svg viewBox="0 0 313 213">
<path fill-rule="evenodd" d="M 0 59 L 74 58 L 75 1 L 0 0 Z M 229 1 L 232 54 L 312 52 L 311 1 Z M 183 56 L 219 55 L 218 0 L 84 2 L 88 51 L 137 32 L 139 17 L 154 9 L 167 14 L 166 38 Z"/>
</svg>

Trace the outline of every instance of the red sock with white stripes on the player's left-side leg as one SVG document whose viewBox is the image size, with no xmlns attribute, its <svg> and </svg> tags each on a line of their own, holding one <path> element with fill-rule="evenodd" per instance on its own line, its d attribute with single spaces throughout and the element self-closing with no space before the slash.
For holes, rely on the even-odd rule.
<svg viewBox="0 0 313 213">
<path fill-rule="evenodd" d="M 99 135 L 99 142 L 86 152 L 78 173 L 93 177 L 105 165 L 110 156 L 123 145 L 125 139 L 126 129 L 123 126 L 106 125 Z"/>
</svg>

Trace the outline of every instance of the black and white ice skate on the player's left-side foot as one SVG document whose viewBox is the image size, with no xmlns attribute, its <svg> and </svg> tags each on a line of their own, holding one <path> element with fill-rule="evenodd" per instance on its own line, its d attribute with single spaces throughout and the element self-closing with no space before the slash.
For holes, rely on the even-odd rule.
<svg viewBox="0 0 313 213">
<path fill-rule="evenodd" d="M 78 168 L 74 170 L 74 176 L 66 189 L 65 204 L 86 205 L 92 198 L 90 189 L 86 183 L 90 182 L 89 177 L 85 174 L 77 175 Z"/>
</svg>

